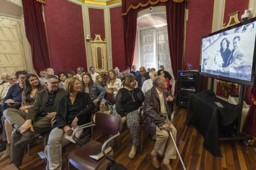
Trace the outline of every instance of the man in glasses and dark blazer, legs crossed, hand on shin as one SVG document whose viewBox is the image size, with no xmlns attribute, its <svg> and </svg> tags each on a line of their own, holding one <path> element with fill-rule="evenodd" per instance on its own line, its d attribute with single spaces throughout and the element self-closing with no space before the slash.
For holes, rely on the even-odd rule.
<svg viewBox="0 0 256 170">
<path fill-rule="evenodd" d="M 35 102 L 27 114 L 16 110 L 16 113 L 6 111 L 4 116 L 14 127 L 9 163 L 19 167 L 22 164 L 25 147 L 38 134 L 51 130 L 51 118 L 56 116 L 59 99 L 66 94 L 58 88 L 59 79 L 54 75 L 45 76 L 47 89 L 36 93 Z"/>
</svg>

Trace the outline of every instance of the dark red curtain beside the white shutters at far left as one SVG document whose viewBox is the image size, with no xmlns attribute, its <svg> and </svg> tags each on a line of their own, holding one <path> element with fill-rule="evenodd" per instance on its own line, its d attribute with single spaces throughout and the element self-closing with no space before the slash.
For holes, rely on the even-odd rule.
<svg viewBox="0 0 256 170">
<path fill-rule="evenodd" d="M 42 6 L 38 1 L 22 0 L 25 31 L 32 51 L 32 62 L 36 73 L 50 67 L 49 50 L 43 21 Z"/>
</svg>

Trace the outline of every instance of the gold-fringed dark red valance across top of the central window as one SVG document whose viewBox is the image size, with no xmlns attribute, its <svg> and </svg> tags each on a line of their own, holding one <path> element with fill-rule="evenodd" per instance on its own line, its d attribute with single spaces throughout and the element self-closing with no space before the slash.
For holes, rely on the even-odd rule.
<svg viewBox="0 0 256 170">
<path fill-rule="evenodd" d="M 138 9 L 139 7 L 155 6 L 159 2 L 167 2 L 168 0 L 122 0 L 122 16 L 127 15 L 130 9 Z M 185 0 L 169 0 L 173 2 L 183 2 Z"/>
</svg>

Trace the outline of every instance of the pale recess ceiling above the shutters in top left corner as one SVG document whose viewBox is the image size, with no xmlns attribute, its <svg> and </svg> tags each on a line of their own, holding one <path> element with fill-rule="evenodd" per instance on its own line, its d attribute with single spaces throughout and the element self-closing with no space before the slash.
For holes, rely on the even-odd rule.
<svg viewBox="0 0 256 170">
<path fill-rule="evenodd" d="M 0 13 L 20 17 L 23 14 L 21 0 L 0 0 Z"/>
</svg>

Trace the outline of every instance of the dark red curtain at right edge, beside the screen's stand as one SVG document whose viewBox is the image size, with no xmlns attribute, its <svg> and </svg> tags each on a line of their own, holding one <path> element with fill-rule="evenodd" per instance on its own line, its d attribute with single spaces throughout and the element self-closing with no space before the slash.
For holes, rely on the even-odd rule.
<svg viewBox="0 0 256 170">
<path fill-rule="evenodd" d="M 252 104 L 244 121 L 244 127 L 242 131 L 250 136 L 256 137 L 256 79 L 254 81 L 254 87 L 252 87 Z"/>
</svg>

